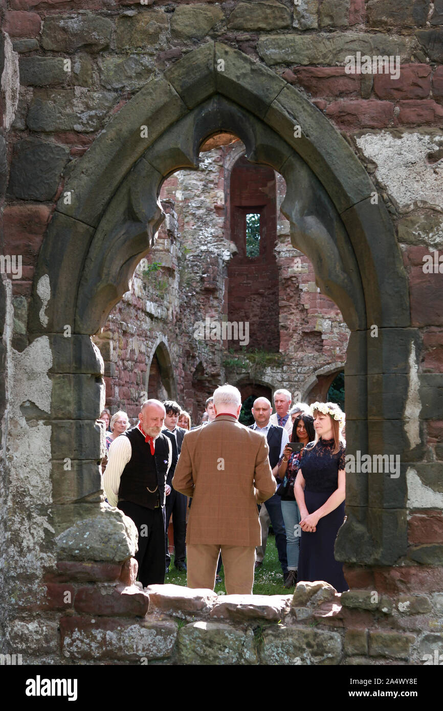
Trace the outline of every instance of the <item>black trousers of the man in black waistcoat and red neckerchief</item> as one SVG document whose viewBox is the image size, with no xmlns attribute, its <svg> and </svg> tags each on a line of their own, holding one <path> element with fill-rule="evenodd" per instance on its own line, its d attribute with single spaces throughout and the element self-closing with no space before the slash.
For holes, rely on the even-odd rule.
<svg viewBox="0 0 443 711">
<path fill-rule="evenodd" d="M 132 501 L 119 501 L 118 508 L 134 521 L 139 532 L 138 579 L 143 587 L 164 584 L 164 506 L 145 508 Z"/>
</svg>

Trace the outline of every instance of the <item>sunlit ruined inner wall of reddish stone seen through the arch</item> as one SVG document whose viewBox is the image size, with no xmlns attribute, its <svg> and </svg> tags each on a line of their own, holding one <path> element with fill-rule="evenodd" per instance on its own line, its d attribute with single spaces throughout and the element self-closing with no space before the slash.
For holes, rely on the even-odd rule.
<svg viewBox="0 0 443 711">
<path fill-rule="evenodd" d="M 166 221 L 154 250 L 139 264 L 131 290 L 114 306 L 102 333 L 94 337 L 105 360 L 106 404 L 111 412 L 122 409 L 137 418 L 140 397 L 149 392 L 150 382 L 153 397 L 166 397 L 169 390 L 169 397 L 177 397 L 193 415 L 193 422 L 198 422 L 206 397 L 227 378 L 234 384 L 257 380 L 272 389 L 287 387 L 309 399 L 308 388 L 316 383 L 316 371 L 336 373 L 343 369 L 348 328 L 333 301 L 319 293 L 311 262 L 291 245 L 289 223 L 279 213 L 286 192 L 279 174 L 278 237 L 271 245 L 277 276 L 269 274 L 269 279 L 276 280 L 279 294 L 280 347 L 274 352 L 275 363 L 251 365 L 247 353 L 236 356 L 229 352 L 238 348 L 233 341 L 194 338 L 195 324 L 204 322 L 206 316 L 218 322 L 234 320 L 235 314 L 227 313 L 228 289 L 246 304 L 247 318 L 248 282 L 257 280 L 254 264 L 247 265 L 248 277 L 241 276 L 242 283 L 230 284 L 228 278 L 230 259 L 237 252 L 230 240 L 227 214 L 230 171 L 242 151 L 238 142 L 204 151 L 198 173 L 178 171 L 164 182 L 160 199 Z M 257 323 L 266 328 L 265 319 Z M 158 370 L 155 363 L 149 381 L 149 366 L 159 343 L 164 343 L 171 357 L 174 374 L 166 385 L 161 373 L 152 372 Z"/>
</svg>

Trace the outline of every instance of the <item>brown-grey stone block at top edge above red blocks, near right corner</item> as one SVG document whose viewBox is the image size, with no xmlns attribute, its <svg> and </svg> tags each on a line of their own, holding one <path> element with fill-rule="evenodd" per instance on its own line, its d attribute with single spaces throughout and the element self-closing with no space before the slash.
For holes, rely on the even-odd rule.
<svg viewBox="0 0 443 711">
<path fill-rule="evenodd" d="M 397 0 L 369 0 L 366 16 L 370 27 L 422 27 L 427 20 L 429 0 L 398 2 Z"/>
</svg>

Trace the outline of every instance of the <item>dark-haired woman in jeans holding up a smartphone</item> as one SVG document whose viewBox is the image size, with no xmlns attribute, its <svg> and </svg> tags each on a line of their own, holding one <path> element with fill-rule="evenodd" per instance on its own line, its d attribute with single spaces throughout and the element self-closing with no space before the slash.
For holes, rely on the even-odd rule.
<svg viewBox="0 0 443 711">
<path fill-rule="evenodd" d="M 308 442 L 315 438 L 314 418 L 303 412 L 294 419 L 291 442 L 283 450 L 283 457 L 279 463 L 277 476 L 283 479 L 279 488 L 282 497 L 282 515 L 286 529 L 286 552 L 289 575 L 284 587 L 294 587 L 297 584 L 297 567 L 299 565 L 300 545 L 300 511 L 294 496 L 294 481 L 299 471 L 301 453 Z M 294 451 L 290 444 L 298 442 L 301 447 Z"/>
</svg>

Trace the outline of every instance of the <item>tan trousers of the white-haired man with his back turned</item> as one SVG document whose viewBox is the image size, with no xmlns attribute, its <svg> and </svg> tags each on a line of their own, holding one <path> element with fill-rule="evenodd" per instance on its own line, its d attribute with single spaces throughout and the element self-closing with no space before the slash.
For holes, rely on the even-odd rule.
<svg viewBox="0 0 443 711">
<path fill-rule="evenodd" d="M 222 554 L 225 587 L 228 595 L 252 595 L 254 584 L 255 546 L 253 545 L 186 545 L 188 587 L 214 589 L 218 555 Z"/>
</svg>

